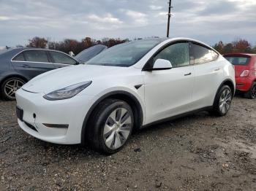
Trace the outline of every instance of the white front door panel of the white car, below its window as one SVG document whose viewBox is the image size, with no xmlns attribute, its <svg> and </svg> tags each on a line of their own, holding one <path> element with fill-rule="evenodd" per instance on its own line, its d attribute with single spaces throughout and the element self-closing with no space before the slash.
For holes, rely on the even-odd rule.
<svg viewBox="0 0 256 191">
<path fill-rule="evenodd" d="M 146 122 L 189 112 L 194 86 L 194 66 L 160 71 L 143 71 Z M 192 75 L 185 76 L 191 73 Z"/>
</svg>

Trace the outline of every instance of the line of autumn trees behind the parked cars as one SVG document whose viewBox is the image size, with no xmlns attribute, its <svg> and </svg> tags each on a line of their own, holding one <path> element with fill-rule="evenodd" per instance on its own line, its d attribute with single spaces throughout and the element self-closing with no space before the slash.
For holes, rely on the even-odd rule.
<svg viewBox="0 0 256 191">
<path fill-rule="evenodd" d="M 64 39 L 63 41 L 59 42 L 52 42 L 48 39 L 41 38 L 39 36 L 35 36 L 32 39 L 29 39 L 29 44 L 26 47 L 40 47 L 45 48 L 48 47 L 49 49 L 53 50 L 61 50 L 62 52 L 68 53 L 72 51 L 77 55 L 79 52 L 89 48 L 91 46 L 97 44 L 103 44 L 107 47 L 113 47 L 116 44 L 121 44 L 124 42 L 129 42 L 129 39 L 113 39 L 113 38 L 104 38 L 101 40 L 92 39 L 90 37 L 86 37 L 80 41 L 75 39 Z M 18 46 L 20 47 L 20 46 Z M 214 44 L 214 49 L 220 52 L 221 54 L 227 53 L 255 53 L 256 54 L 256 45 L 253 47 L 246 39 L 237 39 L 236 41 L 223 43 L 219 41 L 218 43 Z"/>
</svg>

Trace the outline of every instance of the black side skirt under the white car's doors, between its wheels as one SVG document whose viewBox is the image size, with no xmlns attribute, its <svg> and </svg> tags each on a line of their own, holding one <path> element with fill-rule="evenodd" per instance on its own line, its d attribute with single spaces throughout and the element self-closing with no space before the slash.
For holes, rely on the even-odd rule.
<svg viewBox="0 0 256 191">
<path fill-rule="evenodd" d="M 176 120 L 176 119 L 178 119 L 178 118 L 185 117 L 185 116 L 188 116 L 188 115 L 190 115 L 190 114 L 195 114 L 195 113 L 197 113 L 197 112 L 209 111 L 209 110 L 211 110 L 211 109 L 212 109 L 212 106 L 206 106 L 206 107 L 203 107 L 203 108 L 201 108 L 201 109 L 195 109 L 195 110 L 193 110 L 193 111 L 186 112 L 186 113 L 184 113 L 184 114 L 177 114 L 177 115 L 172 116 L 172 117 L 167 117 L 167 118 L 165 118 L 165 119 L 157 120 L 157 121 L 155 121 L 155 122 L 151 122 L 151 123 L 148 123 L 148 124 L 146 124 L 146 125 L 143 125 L 143 126 L 141 126 L 140 129 L 142 129 L 142 128 L 147 128 L 147 127 L 149 127 L 149 126 L 157 125 L 157 124 L 160 124 L 160 123 L 163 123 L 163 122 L 167 122 L 167 121 L 170 121 L 170 120 Z"/>
</svg>

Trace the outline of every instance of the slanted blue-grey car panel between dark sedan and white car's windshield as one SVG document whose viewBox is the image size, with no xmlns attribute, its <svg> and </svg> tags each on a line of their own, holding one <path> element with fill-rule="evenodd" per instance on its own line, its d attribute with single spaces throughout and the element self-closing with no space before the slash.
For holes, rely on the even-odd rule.
<svg viewBox="0 0 256 191">
<path fill-rule="evenodd" d="M 94 56 L 98 55 L 100 52 L 102 52 L 103 50 L 106 50 L 106 49 L 108 49 L 107 46 L 102 45 L 102 44 L 97 44 L 93 47 L 89 47 L 86 50 L 83 50 L 78 55 L 75 55 L 75 59 L 82 63 L 86 63 L 91 58 L 94 58 Z"/>
</svg>

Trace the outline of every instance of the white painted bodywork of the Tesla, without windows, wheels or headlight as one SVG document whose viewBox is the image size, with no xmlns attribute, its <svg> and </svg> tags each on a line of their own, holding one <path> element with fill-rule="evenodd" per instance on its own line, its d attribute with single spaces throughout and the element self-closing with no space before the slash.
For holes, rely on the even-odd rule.
<svg viewBox="0 0 256 191">
<path fill-rule="evenodd" d="M 138 100 L 143 112 L 142 125 L 212 106 L 222 82 L 230 79 L 235 85 L 234 69 L 221 55 L 211 63 L 143 71 L 143 66 L 157 50 L 180 40 L 198 42 L 185 38 L 167 39 L 130 67 L 71 66 L 31 79 L 16 92 L 16 100 L 17 106 L 23 109 L 23 120 L 34 125 L 38 132 L 18 120 L 20 128 L 44 141 L 79 144 L 86 114 L 99 98 L 116 91 L 130 93 Z M 42 97 L 54 90 L 87 81 L 92 81 L 91 85 L 72 98 L 48 101 Z M 142 86 L 137 89 L 135 85 Z M 35 119 L 33 114 L 37 115 Z M 48 128 L 43 123 L 68 124 L 69 128 Z"/>
</svg>

